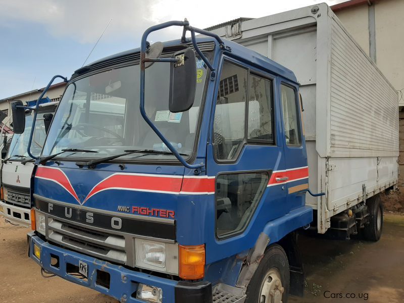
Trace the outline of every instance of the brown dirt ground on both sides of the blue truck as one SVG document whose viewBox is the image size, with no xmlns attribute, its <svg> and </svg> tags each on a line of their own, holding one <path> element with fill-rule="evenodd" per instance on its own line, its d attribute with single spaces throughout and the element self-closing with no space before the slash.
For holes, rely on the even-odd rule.
<svg viewBox="0 0 404 303">
<path fill-rule="evenodd" d="M 59 277 L 42 278 L 27 257 L 27 232 L 0 217 L 0 303 L 117 302 Z M 404 302 L 404 215 L 385 214 L 376 243 L 300 236 L 299 244 L 307 287 L 304 297 L 291 296 L 289 302 Z"/>
</svg>

